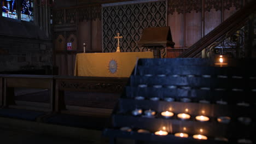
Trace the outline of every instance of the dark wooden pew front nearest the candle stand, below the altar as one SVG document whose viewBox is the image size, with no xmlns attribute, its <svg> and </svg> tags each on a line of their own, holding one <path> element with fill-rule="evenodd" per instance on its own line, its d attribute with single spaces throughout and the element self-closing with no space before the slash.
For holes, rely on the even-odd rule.
<svg viewBox="0 0 256 144">
<path fill-rule="evenodd" d="M 59 76 L 54 79 L 56 80 L 55 112 L 86 116 L 109 116 L 112 109 L 67 105 L 65 104 L 65 91 L 121 94 L 128 80 L 128 78 L 119 77 L 80 76 Z"/>
</svg>

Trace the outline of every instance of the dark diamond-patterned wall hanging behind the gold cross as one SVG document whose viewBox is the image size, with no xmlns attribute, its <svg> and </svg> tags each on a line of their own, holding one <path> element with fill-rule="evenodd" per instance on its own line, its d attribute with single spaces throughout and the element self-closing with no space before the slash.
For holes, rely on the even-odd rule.
<svg viewBox="0 0 256 144">
<path fill-rule="evenodd" d="M 134 1 L 133 1 L 134 2 Z M 121 52 L 147 51 L 138 47 L 144 28 L 166 26 L 166 1 L 147 1 L 102 7 L 102 49 L 103 52 L 115 52 L 117 33 L 120 39 Z M 165 55 L 165 51 L 162 51 Z"/>
</svg>

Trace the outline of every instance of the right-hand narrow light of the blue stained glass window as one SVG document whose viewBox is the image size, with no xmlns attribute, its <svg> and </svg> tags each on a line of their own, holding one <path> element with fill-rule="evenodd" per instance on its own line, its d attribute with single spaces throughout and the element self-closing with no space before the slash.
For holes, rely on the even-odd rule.
<svg viewBox="0 0 256 144">
<path fill-rule="evenodd" d="M 22 0 L 21 3 L 21 20 L 23 21 L 33 21 L 33 0 Z"/>
</svg>

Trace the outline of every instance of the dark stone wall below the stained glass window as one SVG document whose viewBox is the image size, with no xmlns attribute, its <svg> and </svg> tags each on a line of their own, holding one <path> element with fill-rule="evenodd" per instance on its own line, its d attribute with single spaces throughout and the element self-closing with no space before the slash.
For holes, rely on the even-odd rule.
<svg viewBox="0 0 256 144">
<path fill-rule="evenodd" d="M 42 11 L 44 16 L 37 10 Z M 49 69 L 53 68 L 53 44 L 49 34 L 48 12 L 45 5 L 38 6 L 34 22 L 0 15 L 0 73 L 41 69 L 51 74 Z"/>
</svg>

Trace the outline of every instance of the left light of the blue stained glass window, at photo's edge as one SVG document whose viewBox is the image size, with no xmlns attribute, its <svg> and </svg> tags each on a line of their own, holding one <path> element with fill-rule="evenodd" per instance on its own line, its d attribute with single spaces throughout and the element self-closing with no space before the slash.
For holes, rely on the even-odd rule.
<svg viewBox="0 0 256 144">
<path fill-rule="evenodd" d="M 2 0 L 2 16 L 18 19 L 16 11 L 16 0 Z"/>
</svg>

